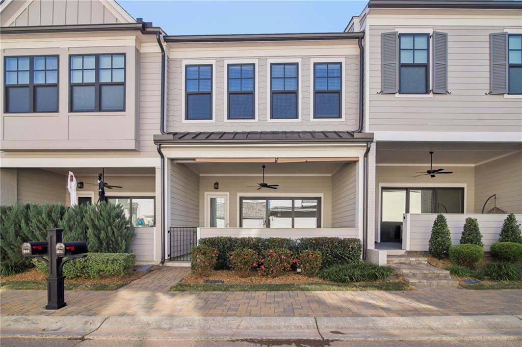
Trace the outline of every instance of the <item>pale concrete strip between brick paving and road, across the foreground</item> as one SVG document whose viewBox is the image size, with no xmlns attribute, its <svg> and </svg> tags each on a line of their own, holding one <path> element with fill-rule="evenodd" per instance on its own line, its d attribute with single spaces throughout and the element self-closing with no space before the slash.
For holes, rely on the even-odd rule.
<svg viewBox="0 0 522 347">
<path fill-rule="evenodd" d="M 2 338 L 522 339 L 522 315 L 359 318 L 2 316 L 1 319 Z"/>
</svg>

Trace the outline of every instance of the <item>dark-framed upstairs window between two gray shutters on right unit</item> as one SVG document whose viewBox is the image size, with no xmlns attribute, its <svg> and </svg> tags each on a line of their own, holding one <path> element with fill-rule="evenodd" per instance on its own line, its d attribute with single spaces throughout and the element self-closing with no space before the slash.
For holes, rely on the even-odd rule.
<svg viewBox="0 0 522 347">
<path fill-rule="evenodd" d="M 429 34 L 399 35 L 399 93 L 429 93 Z"/>
</svg>

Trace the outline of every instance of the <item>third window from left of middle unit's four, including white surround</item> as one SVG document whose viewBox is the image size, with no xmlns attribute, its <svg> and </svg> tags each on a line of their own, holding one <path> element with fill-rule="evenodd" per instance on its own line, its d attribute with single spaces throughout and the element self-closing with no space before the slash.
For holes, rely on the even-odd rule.
<svg viewBox="0 0 522 347">
<path fill-rule="evenodd" d="M 293 73 L 292 66 L 296 65 L 296 74 Z M 281 66 L 282 75 L 281 73 Z M 287 68 L 288 66 L 288 68 Z M 274 71 L 275 68 L 275 71 Z M 287 75 L 285 76 L 285 71 L 287 71 Z M 302 83 L 301 83 L 301 58 L 268 58 L 267 59 L 267 115 L 266 119 L 268 122 L 301 122 L 301 99 L 302 99 Z M 275 72 L 275 74 L 274 74 Z M 295 77 L 293 77 L 295 75 Z M 280 87 L 281 81 L 283 82 L 283 87 Z M 296 84 L 296 89 L 291 89 L 294 86 L 292 83 Z M 275 86 L 274 86 L 275 83 Z M 288 88 L 284 88 L 285 83 L 287 83 Z M 272 88 L 274 87 L 274 88 Z M 273 103 L 278 101 L 278 99 L 274 100 L 274 96 L 279 95 L 281 93 L 288 92 L 292 95 L 296 95 L 296 117 L 278 117 L 277 115 L 272 113 L 274 110 Z M 288 101 L 288 95 L 286 95 L 286 101 Z M 285 100 L 279 100 L 285 101 Z M 277 105 L 276 105 L 277 106 Z M 281 106 L 281 105 L 280 105 Z M 292 103 L 293 106 L 293 103 Z M 277 108 L 277 107 L 276 107 Z M 286 113 L 288 116 L 289 113 Z"/>
</svg>

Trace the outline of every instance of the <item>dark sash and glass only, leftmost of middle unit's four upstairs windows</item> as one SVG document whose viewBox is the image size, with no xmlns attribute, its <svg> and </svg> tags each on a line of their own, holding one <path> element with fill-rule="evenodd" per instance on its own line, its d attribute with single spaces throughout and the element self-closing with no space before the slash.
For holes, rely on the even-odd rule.
<svg viewBox="0 0 522 347">
<path fill-rule="evenodd" d="M 212 119 L 212 65 L 185 66 L 186 119 Z"/>
</svg>

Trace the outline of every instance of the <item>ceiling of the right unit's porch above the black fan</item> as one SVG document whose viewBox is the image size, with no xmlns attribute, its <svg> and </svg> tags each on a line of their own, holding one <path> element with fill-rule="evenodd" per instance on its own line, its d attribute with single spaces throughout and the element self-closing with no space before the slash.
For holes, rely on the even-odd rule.
<svg viewBox="0 0 522 347">
<path fill-rule="evenodd" d="M 377 164 L 477 165 L 522 150 L 522 143 L 377 142 Z"/>
</svg>

